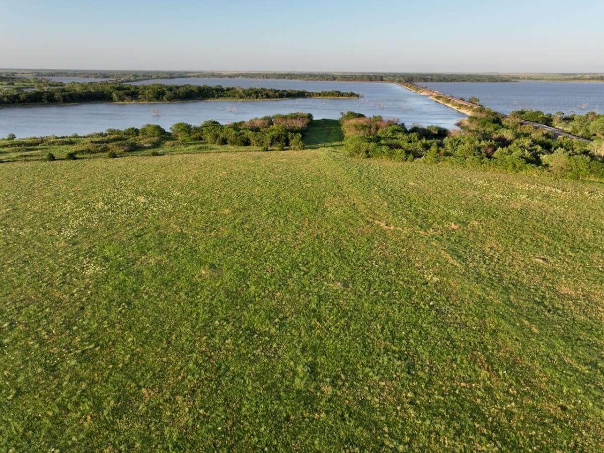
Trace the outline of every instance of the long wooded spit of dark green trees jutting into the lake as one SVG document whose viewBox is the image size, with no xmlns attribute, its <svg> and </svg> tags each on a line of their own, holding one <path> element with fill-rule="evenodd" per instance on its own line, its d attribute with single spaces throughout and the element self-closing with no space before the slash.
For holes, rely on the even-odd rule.
<svg viewBox="0 0 604 453">
<path fill-rule="evenodd" d="M 0 104 L 64 104 L 82 102 L 170 102 L 210 99 L 265 100 L 285 98 L 358 98 L 355 92 L 311 92 L 297 89 L 240 88 L 198 85 L 131 85 L 127 83 L 66 83 L 58 87 L 0 91 Z"/>
</svg>

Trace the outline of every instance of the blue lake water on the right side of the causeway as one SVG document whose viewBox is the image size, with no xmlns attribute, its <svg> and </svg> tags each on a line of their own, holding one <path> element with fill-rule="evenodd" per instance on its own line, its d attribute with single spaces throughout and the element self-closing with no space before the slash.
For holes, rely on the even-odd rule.
<svg viewBox="0 0 604 453">
<path fill-rule="evenodd" d="M 597 82 L 434 82 L 419 83 L 444 94 L 467 99 L 472 96 L 497 112 L 541 110 L 554 114 L 604 113 L 604 83 Z"/>
</svg>

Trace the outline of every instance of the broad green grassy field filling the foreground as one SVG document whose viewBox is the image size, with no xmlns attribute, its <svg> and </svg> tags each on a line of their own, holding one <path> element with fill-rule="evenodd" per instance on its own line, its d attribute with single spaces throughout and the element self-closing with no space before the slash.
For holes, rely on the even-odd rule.
<svg viewBox="0 0 604 453">
<path fill-rule="evenodd" d="M 2 451 L 602 447 L 602 185 L 322 149 L 0 190 Z"/>
</svg>

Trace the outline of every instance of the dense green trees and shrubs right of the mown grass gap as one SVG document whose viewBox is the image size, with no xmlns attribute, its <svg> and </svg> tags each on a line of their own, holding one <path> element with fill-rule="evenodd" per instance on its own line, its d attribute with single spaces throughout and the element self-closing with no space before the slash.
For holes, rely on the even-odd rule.
<svg viewBox="0 0 604 453">
<path fill-rule="evenodd" d="M 437 126 L 407 128 L 382 117 L 348 112 L 341 118 L 345 150 L 352 156 L 402 161 L 452 162 L 509 172 L 547 172 L 577 179 L 604 179 L 601 143 L 586 143 L 477 109 L 451 132 Z"/>
</svg>

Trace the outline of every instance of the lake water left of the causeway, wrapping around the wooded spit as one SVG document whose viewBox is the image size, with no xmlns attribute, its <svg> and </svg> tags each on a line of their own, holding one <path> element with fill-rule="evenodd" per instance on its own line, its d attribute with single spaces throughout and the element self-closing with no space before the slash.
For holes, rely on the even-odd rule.
<svg viewBox="0 0 604 453">
<path fill-rule="evenodd" d="M 125 129 L 146 123 L 169 128 L 184 121 L 201 124 L 206 120 L 220 123 L 245 121 L 254 117 L 291 112 L 308 112 L 316 119 L 339 118 L 341 112 L 355 111 L 365 115 L 397 118 L 413 123 L 452 128 L 465 118 L 428 97 L 408 91 L 393 83 L 367 82 L 307 82 L 301 80 L 260 79 L 169 79 L 135 83 L 186 83 L 306 89 L 324 91 L 338 89 L 362 94 L 361 99 L 294 99 L 275 101 L 193 101 L 184 103 L 112 104 L 93 103 L 59 106 L 22 106 L 0 108 L 0 137 L 14 133 L 17 137 L 71 135 L 91 133 L 110 127 Z M 161 115 L 158 115 L 161 114 Z"/>
</svg>

